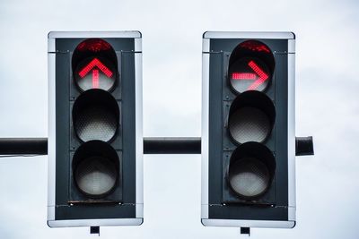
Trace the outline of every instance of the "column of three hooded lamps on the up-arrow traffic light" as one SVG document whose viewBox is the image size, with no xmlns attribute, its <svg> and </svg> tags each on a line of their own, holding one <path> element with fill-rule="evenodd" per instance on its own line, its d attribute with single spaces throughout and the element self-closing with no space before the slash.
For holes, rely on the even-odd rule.
<svg viewBox="0 0 359 239">
<path fill-rule="evenodd" d="M 84 199 L 104 200 L 120 186 L 120 158 L 111 146 L 119 137 L 120 107 L 110 92 L 117 87 L 117 57 L 105 40 L 90 38 L 76 47 L 72 64 L 80 93 L 74 99 L 73 128 L 81 142 L 74 153 L 73 181 Z"/>
</svg>

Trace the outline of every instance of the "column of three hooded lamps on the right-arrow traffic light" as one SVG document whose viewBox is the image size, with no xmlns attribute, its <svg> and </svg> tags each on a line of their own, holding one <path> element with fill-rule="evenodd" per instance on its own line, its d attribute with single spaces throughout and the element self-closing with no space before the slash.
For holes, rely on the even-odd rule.
<svg viewBox="0 0 359 239">
<path fill-rule="evenodd" d="M 274 66 L 270 49 L 256 40 L 242 42 L 230 57 L 227 79 L 237 97 L 227 132 L 238 148 L 232 152 L 226 177 L 232 194 L 244 201 L 258 200 L 273 180 L 275 159 L 264 143 L 276 119 L 273 101 L 265 93 Z"/>
</svg>

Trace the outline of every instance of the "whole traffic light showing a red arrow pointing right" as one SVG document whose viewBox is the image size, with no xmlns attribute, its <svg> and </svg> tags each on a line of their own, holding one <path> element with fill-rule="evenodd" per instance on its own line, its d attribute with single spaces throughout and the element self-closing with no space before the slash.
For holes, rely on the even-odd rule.
<svg viewBox="0 0 359 239">
<path fill-rule="evenodd" d="M 295 226 L 294 34 L 203 37 L 204 226 Z"/>
</svg>

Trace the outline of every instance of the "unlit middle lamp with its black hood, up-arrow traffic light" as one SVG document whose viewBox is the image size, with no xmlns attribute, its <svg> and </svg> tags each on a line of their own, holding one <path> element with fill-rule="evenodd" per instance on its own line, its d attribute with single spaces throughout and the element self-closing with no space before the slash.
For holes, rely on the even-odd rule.
<svg viewBox="0 0 359 239">
<path fill-rule="evenodd" d="M 74 102 L 74 132 L 82 141 L 110 141 L 118 130 L 118 103 L 107 91 L 88 90 Z"/>
</svg>

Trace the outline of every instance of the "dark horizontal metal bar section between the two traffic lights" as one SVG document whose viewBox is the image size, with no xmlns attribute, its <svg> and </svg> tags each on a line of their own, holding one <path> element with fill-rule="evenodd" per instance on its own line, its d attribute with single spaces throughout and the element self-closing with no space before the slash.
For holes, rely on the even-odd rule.
<svg viewBox="0 0 359 239">
<path fill-rule="evenodd" d="M 144 154 L 200 154 L 201 138 L 144 138 Z"/>
</svg>

